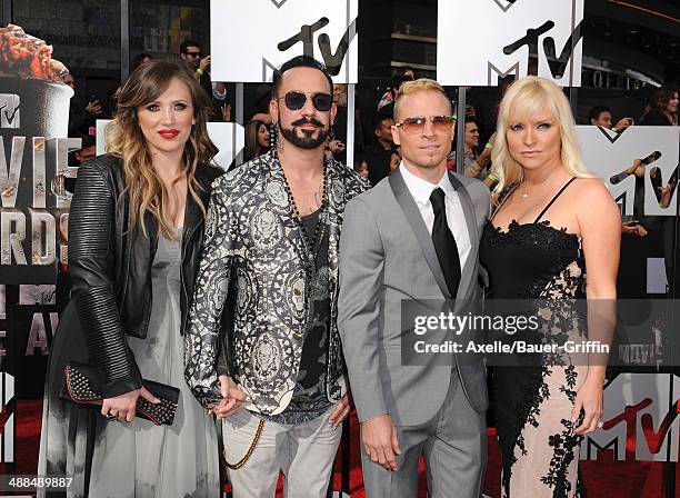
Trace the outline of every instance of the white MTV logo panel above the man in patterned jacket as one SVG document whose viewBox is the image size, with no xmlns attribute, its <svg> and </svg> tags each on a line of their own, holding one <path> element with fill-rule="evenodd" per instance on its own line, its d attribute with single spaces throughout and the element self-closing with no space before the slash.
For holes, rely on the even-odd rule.
<svg viewBox="0 0 680 498">
<path fill-rule="evenodd" d="M 270 82 L 283 62 L 307 54 L 323 62 L 334 82 L 356 83 L 358 14 L 359 0 L 251 0 L 247 9 L 211 0 L 212 80 Z"/>
</svg>

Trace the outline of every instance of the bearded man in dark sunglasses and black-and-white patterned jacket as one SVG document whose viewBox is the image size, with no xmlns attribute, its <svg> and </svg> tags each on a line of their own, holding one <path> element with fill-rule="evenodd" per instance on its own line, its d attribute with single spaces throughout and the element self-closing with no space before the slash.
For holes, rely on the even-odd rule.
<svg viewBox="0 0 680 498">
<path fill-rule="evenodd" d="M 286 62 L 276 147 L 212 186 L 184 376 L 222 419 L 234 498 L 273 497 L 280 470 L 287 496 L 326 497 L 349 414 L 338 251 L 344 206 L 368 183 L 324 158 L 332 91 L 314 59 Z"/>
</svg>

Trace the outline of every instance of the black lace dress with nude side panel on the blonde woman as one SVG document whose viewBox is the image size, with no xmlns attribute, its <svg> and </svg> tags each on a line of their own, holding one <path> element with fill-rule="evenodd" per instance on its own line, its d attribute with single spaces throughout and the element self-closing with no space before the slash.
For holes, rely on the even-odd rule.
<svg viewBox="0 0 680 498">
<path fill-rule="evenodd" d="M 513 220 L 502 231 L 489 220 L 480 246 L 480 262 L 489 271 L 489 298 L 517 299 L 524 312 L 533 308 L 541 317 L 541 330 L 550 330 L 550 340 L 562 343 L 582 329 L 578 317 L 564 306 L 582 297 L 586 271 L 581 240 L 541 218 L 571 181 L 533 223 Z M 509 189 L 501 196 L 501 206 L 511 193 Z M 579 421 L 571 422 L 571 411 L 587 368 L 574 365 L 568 355 L 557 361 L 526 357 L 514 361 L 514 366 L 493 369 L 502 496 L 580 496 L 581 438 L 573 435 Z"/>
</svg>

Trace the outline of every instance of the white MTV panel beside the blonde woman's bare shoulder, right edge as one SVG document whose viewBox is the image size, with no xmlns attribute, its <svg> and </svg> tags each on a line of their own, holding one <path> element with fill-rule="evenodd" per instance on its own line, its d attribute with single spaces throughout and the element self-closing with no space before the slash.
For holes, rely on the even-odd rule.
<svg viewBox="0 0 680 498">
<path fill-rule="evenodd" d="M 583 162 L 601 177 L 624 216 L 674 216 L 677 186 L 671 178 L 678 176 L 680 156 L 678 127 L 630 127 L 616 135 L 593 126 L 578 126 L 577 136 Z M 642 177 L 627 173 L 636 165 Z M 636 191 L 636 183 L 643 189 Z M 677 183 L 677 182 L 676 182 Z M 667 207 L 661 207 L 660 188 L 673 187 Z M 636 196 L 644 196 L 636 199 Z M 633 208 L 638 203 L 638 212 Z M 640 212 L 641 211 L 641 212 Z"/>
</svg>

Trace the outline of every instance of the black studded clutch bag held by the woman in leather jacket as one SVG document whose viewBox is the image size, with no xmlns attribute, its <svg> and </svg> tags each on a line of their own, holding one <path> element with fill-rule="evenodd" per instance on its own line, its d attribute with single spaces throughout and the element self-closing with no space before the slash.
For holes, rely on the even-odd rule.
<svg viewBox="0 0 680 498">
<path fill-rule="evenodd" d="M 154 405 L 140 397 L 137 400 L 137 417 L 150 420 L 157 426 L 171 426 L 177 411 L 179 389 L 152 380 L 142 380 L 142 385 L 161 402 Z M 79 405 L 101 406 L 103 402 L 101 386 L 101 378 L 96 367 L 71 361 L 66 366 L 61 397 Z"/>
</svg>

